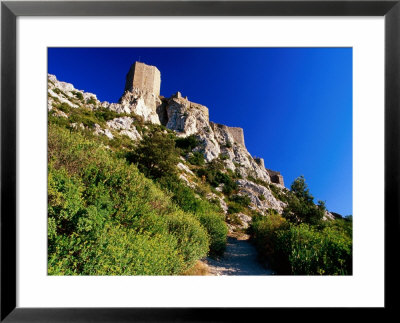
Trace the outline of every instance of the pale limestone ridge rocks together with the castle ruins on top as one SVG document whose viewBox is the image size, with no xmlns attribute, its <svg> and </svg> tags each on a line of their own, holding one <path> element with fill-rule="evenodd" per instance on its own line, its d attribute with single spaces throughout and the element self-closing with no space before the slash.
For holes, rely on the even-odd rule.
<svg viewBox="0 0 400 323">
<path fill-rule="evenodd" d="M 178 137 L 194 135 L 199 143 L 194 151 L 201 152 L 206 162 L 218 158 L 227 169 L 243 178 L 237 181 L 239 194 L 249 196 L 252 208 L 260 212 L 274 209 L 282 213 L 285 204 L 278 201 L 270 189 L 252 182 L 249 178 L 260 179 L 266 184 L 275 183 L 283 188 L 283 177 L 279 172 L 266 169 L 262 158 L 251 156 L 245 146 L 243 129 L 210 122 L 208 108 L 191 102 L 180 92 L 169 98 L 160 96 L 161 74 L 155 66 L 139 62 L 133 64 L 126 75 L 124 93 L 118 103 L 100 102 L 96 95 L 75 89 L 72 84 L 60 82 L 54 75 L 49 74 L 48 80 L 49 110 L 55 103 L 65 103 L 71 108 L 78 108 L 84 104 L 93 110 L 102 108 L 125 114 L 124 117 L 107 121 L 106 125 L 94 126 L 95 134 L 110 139 L 114 138 L 115 134 L 121 134 L 131 140 L 141 140 L 142 135 L 134 125 L 135 118 L 164 125 L 173 130 Z M 68 117 L 59 110 L 56 113 L 60 117 Z M 82 125 L 75 127 L 78 129 Z M 189 177 L 194 174 L 184 163 L 180 163 L 178 167 L 183 171 L 182 180 L 192 186 Z M 217 191 L 222 191 L 222 187 L 217 188 Z M 222 209 L 227 212 L 224 198 L 217 198 Z M 246 222 L 246 219 L 243 219 L 243 222 Z"/>
</svg>

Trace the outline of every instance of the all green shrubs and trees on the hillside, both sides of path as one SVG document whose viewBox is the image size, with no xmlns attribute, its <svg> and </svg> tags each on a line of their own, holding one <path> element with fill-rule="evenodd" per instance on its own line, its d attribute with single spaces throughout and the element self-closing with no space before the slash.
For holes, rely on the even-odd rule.
<svg viewBox="0 0 400 323">
<path fill-rule="evenodd" d="M 88 108 L 82 93 L 73 94 L 71 102 L 79 108 L 53 103 L 68 118 L 48 113 L 50 275 L 187 274 L 206 255 L 223 255 L 225 221 L 241 225 L 238 213 L 252 217 L 248 233 L 261 258 L 279 274 L 352 274 L 352 217 L 323 221 L 325 204 L 314 203 L 304 177 L 289 191 L 248 176 L 286 203 L 282 215 L 274 210 L 261 215 L 239 191 L 239 170 L 225 167 L 227 155 L 206 163 L 201 152 L 193 151 L 201 145 L 195 135 L 177 138 L 132 115 L 142 141 L 115 133 L 113 139 L 96 136 L 95 124 L 105 127 L 128 114 Z M 94 98 L 87 102 L 95 103 Z M 191 178 L 196 188 L 179 178 L 179 156 L 198 176 Z M 226 216 L 215 195 L 207 200 L 210 193 L 225 197 Z"/>
</svg>

